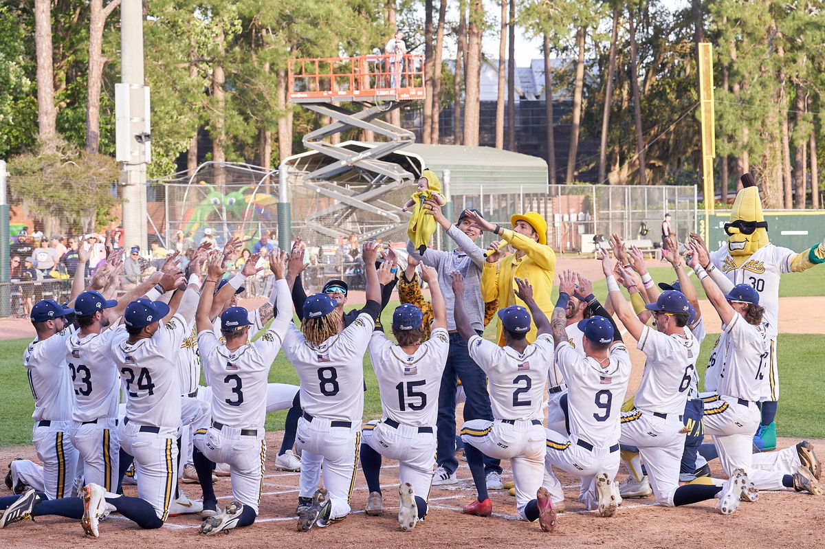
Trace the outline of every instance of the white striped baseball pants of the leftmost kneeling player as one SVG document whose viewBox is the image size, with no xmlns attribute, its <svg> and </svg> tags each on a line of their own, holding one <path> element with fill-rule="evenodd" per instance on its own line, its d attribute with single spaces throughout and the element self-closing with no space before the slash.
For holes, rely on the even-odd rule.
<svg viewBox="0 0 825 549">
<path fill-rule="evenodd" d="M 70 441 L 71 421 L 36 421 L 31 431 L 37 458 L 43 463 L 43 488 L 50 500 L 72 494 L 79 453 Z"/>
</svg>

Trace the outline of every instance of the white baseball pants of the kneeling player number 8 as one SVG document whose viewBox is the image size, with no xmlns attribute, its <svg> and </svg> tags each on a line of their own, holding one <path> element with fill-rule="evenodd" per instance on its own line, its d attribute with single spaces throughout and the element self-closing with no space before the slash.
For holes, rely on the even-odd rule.
<svg viewBox="0 0 825 549">
<path fill-rule="evenodd" d="M 343 519 L 350 513 L 350 498 L 356 483 L 358 451 L 361 449 L 361 424 L 328 420 L 322 417 L 298 420 L 295 436 L 301 454 L 298 495 L 311 498 L 318 489 L 323 464 L 323 486 L 332 501 L 330 519 Z"/>
</svg>

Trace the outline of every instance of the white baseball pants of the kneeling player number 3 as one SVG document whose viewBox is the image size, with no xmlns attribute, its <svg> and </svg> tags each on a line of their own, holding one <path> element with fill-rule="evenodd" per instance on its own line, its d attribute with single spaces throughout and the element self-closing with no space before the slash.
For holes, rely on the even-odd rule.
<svg viewBox="0 0 825 549">
<path fill-rule="evenodd" d="M 236 429 L 224 425 L 221 429 L 198 429 L 194 437 L 196 447 L 210 462 L 229 464 L 233 499 L 254 509 L 256 515 L 261 503 L 266 461 L 263 434 L 263 429 Z"/>
</svg>

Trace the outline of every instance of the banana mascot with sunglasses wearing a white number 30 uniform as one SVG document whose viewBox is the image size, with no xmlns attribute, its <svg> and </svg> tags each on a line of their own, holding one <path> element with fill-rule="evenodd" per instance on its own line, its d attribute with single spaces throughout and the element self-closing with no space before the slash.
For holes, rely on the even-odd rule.
<svg viewBox="0 0 825 549">
<path fill-rule="evenodd" d="M 764 321 L 771 338 L 767 371 L 762 374 L 761 425 L 754 442 L 764 449 L 776 447 L 776 401 L 779 400 L 779 371 L 776 366 L 776 334 L 778 333 L 779 282 L 783 273 L 801 273 L 813 265 L 825 263 L 825 242 L 799 253 L 774 246 L 768 239 L 768 225 L 762 215 L 761 199 L 756 181 L 750 173 L 742 176 L 744 187 L 736 195 L 733 209 L 724 230 L 728 242 L 710 253 L 716 266 L 714 280 L 723 291 L 734 284 L 750 284 L 759 292 L 759 304 L 765 307 Z M 705 390 L 714 390 L 713 373 L 705 376 Z"/>
</svg>

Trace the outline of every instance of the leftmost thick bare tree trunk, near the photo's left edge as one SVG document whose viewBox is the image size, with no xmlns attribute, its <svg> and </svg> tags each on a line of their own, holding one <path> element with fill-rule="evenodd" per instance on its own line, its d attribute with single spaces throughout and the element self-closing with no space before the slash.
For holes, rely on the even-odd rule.
<svg viewBox="0 0 825 549">
<path fill-rule="evenodd" d="M 57 138 L 54 107 L 54 62 L 52 60 L 51 2 L 35 0 L 35 51 L 37 56 L 37 138 L 45 148 Z"/>
</svg>

